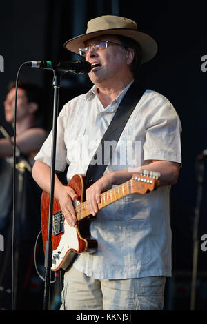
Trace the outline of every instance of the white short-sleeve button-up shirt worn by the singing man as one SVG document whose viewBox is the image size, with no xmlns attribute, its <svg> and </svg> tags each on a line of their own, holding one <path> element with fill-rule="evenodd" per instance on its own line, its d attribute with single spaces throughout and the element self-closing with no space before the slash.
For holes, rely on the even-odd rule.
<svg viewBox="0 0 207 324">
<path fill-rule="evenodd" d="M 131 84 L 131 83 L 130 83 Z M 57 121 L 56 170 L 69 164 L 68 181 L 86 174 L 88 163 L 130 84 L 103 108 L 95 86 L 66 103 Z M 147 160 L 181 163 L 181 123 L 166 97 L 146 90 L 121 134 L 106 172 Z M 35 157 L 50 165 L 51 133 Z M 171 275 L 170 186 L 131 194 L 100 210 L 90 225 L 97 251 L 78 256 L 74 266 L 95 279 Z"/>
</svg>

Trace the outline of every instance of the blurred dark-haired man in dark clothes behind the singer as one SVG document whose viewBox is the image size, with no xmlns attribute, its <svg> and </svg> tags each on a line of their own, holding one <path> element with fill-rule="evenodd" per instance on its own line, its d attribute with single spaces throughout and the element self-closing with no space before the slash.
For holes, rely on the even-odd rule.
<svg viewBox="0 0 207 324">
<path fill-rule="evenodd" d="M 4 111 L 6 121 L 13 127 L 15 92 L 15 82 L 11 82 L 4 101 Z M 34 164 L 34 155 L 37 154 L 47 136 L 42 125 L 42 103 L 41 88 L 27 81 L 19 80 L 16 118 L 18 156 L 16 160 L 17 192 L 15 194 L 14 233 L 12 233 L 13 137 L 10 137 L 1 126 L 1 132 L 5 137 L 2 136 L 0 139 L 0 233 L 4 237 L 5 250 L 1 252 L 0 259 L 0 307 L 6 309 L 12 308 L 12 239 L 14 239 L 15 278 L 15 292 L 13 293 L 17 300 L 15 307 L 19 310 L 37 307 L 39 298 L 36 302 L 32 298 L 35 294 L 40 296 L 41 292 L 38 287 L 36 292 L 32 292 L 30 285 L 35 276 L 34 242 L 41 228 L 39 217 L 41 190 L 32 179 L 32 165 Z"/>
</svg>

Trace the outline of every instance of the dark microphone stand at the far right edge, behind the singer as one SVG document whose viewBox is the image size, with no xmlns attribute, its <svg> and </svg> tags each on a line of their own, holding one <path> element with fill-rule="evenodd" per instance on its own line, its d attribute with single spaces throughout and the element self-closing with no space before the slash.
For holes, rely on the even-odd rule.
<svg viewBox="0 0 207 324">
<path fill-rule="evenodd" d="M 198 190 L 197 200 L 195 205 L 195 219 L 193 224 L 193 272 L 191 282 L 191 298 L 190 298 L 190 310 L 195 310 L 195 295 L 196 295 L 196 284 L 197 284 L 197 261 L 198 261 L 198 250 L 199 250 L 199 215 L 201 207 L 201 199 L 203 194 L 203 183 L 204 183 L 204 157 L 197 157 L 197 168 L 198 168 Z"/>
</svg>

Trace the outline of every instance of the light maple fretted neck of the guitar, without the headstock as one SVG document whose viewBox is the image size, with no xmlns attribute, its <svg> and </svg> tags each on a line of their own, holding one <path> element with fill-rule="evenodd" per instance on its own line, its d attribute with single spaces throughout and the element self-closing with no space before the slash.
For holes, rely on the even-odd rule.
<svg viewBox="0 0 207 324">
<path fill-rule="evenodd" d="M 125 183 L 122 183 L 121 185 L 112 188 L 106 192 L 103 192 L 101 194 L 101 202 L 98 203 L 98 209 L 101 210 L 102 208 L 110 205 L 111 203 L 114 203 L 118 199 L 123 198 L 124 196 L 127 196 L 128 194 L 132 193 L 132 179 L 129 181 L 126 181 Z M 80 205 L 77 205 L 75 207 L 75 212 L 77 215 L 77 220 L 81 221 L 81 219 L 85 219 L 87 216 L 90 215 L 90 211 L 88 210 L 88 204 L 85 201 L 84 203 L 81 203 Z"/>
</svg>

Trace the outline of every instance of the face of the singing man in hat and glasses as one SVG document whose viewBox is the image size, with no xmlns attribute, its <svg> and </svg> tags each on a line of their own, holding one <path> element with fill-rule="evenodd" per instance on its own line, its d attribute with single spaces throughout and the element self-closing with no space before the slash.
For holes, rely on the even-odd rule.
<svg viewBox="0 0 207 324">
<path fill-rule="evenodd" d="M 97 45 L 101 41 L 112 41 L 121 45 L 121 42 L 116 36 L 105 35 L 90 39 L 85 45 Z M 98 84 L 106 81 L 117 81 L 119 78 L 124 77 L 127 66 L 127 50 L 123 46 L 108 43 L 108 48 L 100 48 L 95 50 L 91 47 L 86 52 L 86 61 L 91 64 L 97 63 L 99 65 L 92 67 L 92 70 L 88 74 L 92 83 Z"/>
</svg>

